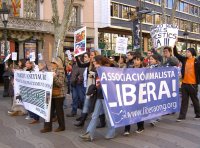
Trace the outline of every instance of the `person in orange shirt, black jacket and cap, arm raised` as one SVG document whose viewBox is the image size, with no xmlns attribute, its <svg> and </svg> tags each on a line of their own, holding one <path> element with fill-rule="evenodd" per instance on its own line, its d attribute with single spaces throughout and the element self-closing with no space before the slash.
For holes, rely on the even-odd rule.
<svg viewBox="0 0 200 148">
<path fill-rule="evenodd" d="M 181 122 L 186 119 L 189 97 L 192 100 L 194 106 L 194 112 L 196 116 L 195 120 L 200 119 L 200 105 L 197 98 L 199 72 L 200 72 L 200 61 L 198 61 L 196 56 L 196 51 L 194 48 L 188 48 L 186 50 L 186 57 L 178 54 L 176 46 L 174 46 L 174 56 L 176 56 L 179 61 L 182 62 L 181 74 L 182 74 L 182 102 L 179 117 L 177 122 Z"/>
</svg>

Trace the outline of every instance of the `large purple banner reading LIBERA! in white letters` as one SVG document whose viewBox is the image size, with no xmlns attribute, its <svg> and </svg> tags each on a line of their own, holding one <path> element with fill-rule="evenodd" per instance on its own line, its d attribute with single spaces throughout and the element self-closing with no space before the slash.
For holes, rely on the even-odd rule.
<svg viewBox="0 0 200 148">
<path fill-rule="evenodd" d="M 114 127 L 179 111 L 179 78 L 175 67 L 101 67 L 97 72 Z"/>
</svg>

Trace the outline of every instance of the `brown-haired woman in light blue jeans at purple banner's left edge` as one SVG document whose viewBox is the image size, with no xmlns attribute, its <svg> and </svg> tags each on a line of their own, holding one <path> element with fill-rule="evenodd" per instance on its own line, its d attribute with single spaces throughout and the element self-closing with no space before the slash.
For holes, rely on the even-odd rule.
<svg viewBox="0 0 200 148">
<path fill-rule="evenodd" d="M 109 59 L 107 59 L 101 55 L 94 57 L 93 63 L 94 63 L 95 68 L 99 68 L 100 66 L 111 66 Z M 93 95 L 95 95 L 95 94 L 93 94 Z M 115 136 L 115 128 L 111 126 L 107 107 L 104 102 L 102 88 L 100 85 L 100 79 L 98 77 L 96 77 L 96 96 L 97 96 L 97 100 L 95 103 L 94 112 L 92 114 L 92 119 L 87 127 L 86 133 L 84 133 L 83 135 L 80 135 L 80 138 L 85 141 L 92 141 L 94 139 L 94 133 L 95 133 L 95 129 L 97 126 L 97 121 L 98 121 L 97 119 L 98 119 L 98 117 L 100 115 L 100 111 L 102 109 L 104 109 L 106 120 L 107 120 L 107 125 L 108 125 L 108 132 L 107 132 L 107 135 L 105 136 L 105 138 L 112 139 Z"/>
</svg>

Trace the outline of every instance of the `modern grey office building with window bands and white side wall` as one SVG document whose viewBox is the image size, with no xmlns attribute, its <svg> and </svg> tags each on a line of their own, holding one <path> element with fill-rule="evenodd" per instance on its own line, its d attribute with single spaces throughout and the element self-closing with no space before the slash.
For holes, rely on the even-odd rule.
<svg viewBox="0 0 200 148">
<path fill-rule="evenodd" d="M 132 49 L 132 30 L 136 8 L 142 4 L 144 8 L 156 12 L 154 15 L 144 14 L 142 22 L 142 47 L 144 52 L 152 47 L 150 28 L 161 23 L 161 0 L 103 0 L 108 8 L 102 12 L 107 14 L 107 23 L 101 22 L 98 29 L 99 46 L 106 50 L 115 50 L 118 36 L 128 38 L 128 48 Z M 172 13 L 173 0 L 166 0 L 166 22 L 169 23 Z M 105 19 L 105 18 L 104 18 Z M 179 0 L 175 13 L 174 24 L 179 28 L 178 47 L 185 49 L 194 47 L 200 51 L 200 1 Z M 102 46 L 102 44 L 104 46 Z M 187 44 L 187 45 L 186 45 Z"/>
</svg>

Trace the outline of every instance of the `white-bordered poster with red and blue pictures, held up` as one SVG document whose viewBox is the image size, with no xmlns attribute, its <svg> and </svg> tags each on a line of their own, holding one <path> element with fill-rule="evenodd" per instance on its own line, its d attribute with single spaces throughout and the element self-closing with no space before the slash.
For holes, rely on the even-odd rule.
<svg viewBox="0 0 200 148">
<path fill-rule="evenodd" d="M 74 32 L 74 56 L 86 52 L 86 27 Z"/>
</svg>

